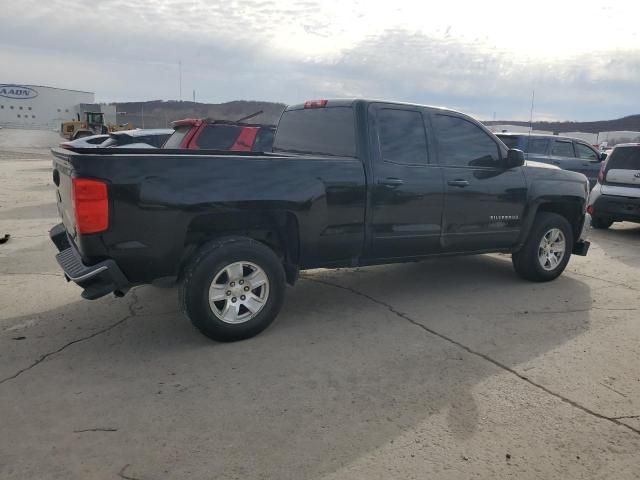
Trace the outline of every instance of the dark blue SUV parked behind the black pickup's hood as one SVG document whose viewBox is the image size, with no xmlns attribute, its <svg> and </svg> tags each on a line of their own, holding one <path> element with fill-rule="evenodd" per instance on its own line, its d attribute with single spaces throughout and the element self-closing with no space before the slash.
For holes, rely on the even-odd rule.
<svg viewBox="0 0 640 480">
<path fill-rule="evenodd" d="M 528 160 L 584 174 L 591 188 L 596 184 L 600 162 L 606 158 L 587 142 L 576 138 L 526 133 L 498 133 L 497 136 L 507 147 L 525 152 Z"/>
</svg>

